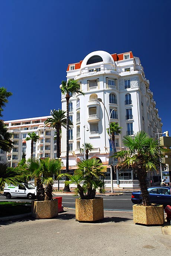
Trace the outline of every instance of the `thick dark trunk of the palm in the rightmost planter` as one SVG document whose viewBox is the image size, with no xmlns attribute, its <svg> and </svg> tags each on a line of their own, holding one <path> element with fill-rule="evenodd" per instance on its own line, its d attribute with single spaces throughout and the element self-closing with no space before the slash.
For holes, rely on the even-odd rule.
<svg viewBox="0 0 171 256">
<path fill-rule="evenodd" d="M 139 179 L 139 185 L 142 192 L 142 202 L 143 206 L 149 206 L 150 205 L 150 199 L 149 199 L 149 193 L 147 190 L 147 183 L 146 183 L 146 171 L 142 168 L 137 170 L 138 179 Z"/>
</svg>

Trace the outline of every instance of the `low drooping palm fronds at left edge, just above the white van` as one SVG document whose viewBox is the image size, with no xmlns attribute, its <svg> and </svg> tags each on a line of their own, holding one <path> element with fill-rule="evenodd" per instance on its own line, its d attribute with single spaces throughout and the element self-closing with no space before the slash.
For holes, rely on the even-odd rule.
<svg viewBox="0 0 171 256">
<path fill-rule="evenodd" d="M 18 176 L 14 168 L 9 168 L 7 163 L 0 163 L 0 190 L 7 184 L 13 184 L 14 186 L 18 183 Z"/>
</svg>

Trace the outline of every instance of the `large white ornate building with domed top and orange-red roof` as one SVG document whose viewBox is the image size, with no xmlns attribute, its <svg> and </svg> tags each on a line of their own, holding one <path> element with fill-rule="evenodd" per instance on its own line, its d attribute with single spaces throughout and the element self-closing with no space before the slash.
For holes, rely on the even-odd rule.
<svg viewBox="0 0 171 256">
<path fill-rule="evenodd" d="M 85 94 L 77 94 L 69 102 L 69 116 L 73 122 L 69 130 L 69 165 L 73 169 L 83 159 L 80 148 L 83 148 L 85 138 L 85 142 L 94 147 L 89 152 L 89 158 L 100 158 L 108 167 L 107 173 L 110 176 L 107 166 L 109 135 L 106 132 L 109 119 L 123 127 L 122 133 L 115 136 L 117 151 L 123 149 L 123 135 L 133 136 L 144 130 L 151 137 L 157 138 L 155 133 L 161 133 L 161 118 L 149 89 L 149 80 L 145 78 L 140 59 L 134 57 L 131 51 L 122 54 L 94 51 L 84 60 L 68 65 L 68 79 L 77 79 Z M 62 110 L 66 111 L 65 95 L 62 95 L 61 102 Z M 63 127 L 61 158 L 65 165 L 66 130 Z M 132 170 L 125 170 L 119 175 L 120 179 L 134 179 Z"/>
</svg>

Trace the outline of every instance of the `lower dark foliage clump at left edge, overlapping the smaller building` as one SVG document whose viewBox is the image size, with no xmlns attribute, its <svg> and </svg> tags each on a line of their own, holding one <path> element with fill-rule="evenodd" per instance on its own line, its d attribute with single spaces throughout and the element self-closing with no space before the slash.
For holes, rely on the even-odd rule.
<svg viewBox="0 0 171 256">
<path fill-rule="evenodd" d="M 12 136 L 13 134 L 8 132 L 6 125 L 0 120 L 0 148 L 3 151 L 10 152 L 13 148 Z"/>
</svg>

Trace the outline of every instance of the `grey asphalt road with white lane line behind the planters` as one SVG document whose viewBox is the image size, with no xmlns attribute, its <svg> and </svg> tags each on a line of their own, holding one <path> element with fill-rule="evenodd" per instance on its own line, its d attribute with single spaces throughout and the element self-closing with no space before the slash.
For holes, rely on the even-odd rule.
<svg viewBox="0 0 171 256">
<path fill-rule="evenodd" d="M 58 196 L 58 195 L 55 195 Z M 61 195 L 59 195 L 61 196 Z M 4 196 L 0 196 L 0 201 L 20 201 L 20 202 L 31 202 L 28 199 L 14 198 L 6 199 Z M 118 196 L 103 196 L 104 210 L 108 211 L 121 211 L 130 212 L 132 211 L 131 193 L 123 194 Z M 62 205 L 67 208 L 75 208 L 75 196 L 62 195 Z"/>
</svg>

